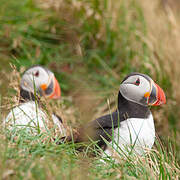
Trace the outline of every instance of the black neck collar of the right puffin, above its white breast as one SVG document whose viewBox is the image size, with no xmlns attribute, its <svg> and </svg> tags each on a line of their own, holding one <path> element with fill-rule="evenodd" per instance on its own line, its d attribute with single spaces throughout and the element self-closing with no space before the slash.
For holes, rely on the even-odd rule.
<svg viewBox="0 0 180 180">
<path fill-rule="evenodd" d="M 140 104 L 128 101 L 122 94 L 118 94 L 118 111 L 120 115 L 127 118 L 147 118 L 150 114 L 148 106 L 142 106 Z"/>
</svg>

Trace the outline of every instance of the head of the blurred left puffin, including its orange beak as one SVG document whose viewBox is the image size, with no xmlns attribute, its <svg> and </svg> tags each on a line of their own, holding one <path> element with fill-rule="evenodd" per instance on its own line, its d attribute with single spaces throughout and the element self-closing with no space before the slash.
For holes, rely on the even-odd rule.
<svg viewBox="0 0 180 180">
<path fill-rule="evenodd" d="M 54 74 L 39 65 L 30 67 L 24 72 L 20 88 L 28 93 L 36 92 L 51 99 L 58 99 L 61 96 L 61 89 Z"/>
</svg>

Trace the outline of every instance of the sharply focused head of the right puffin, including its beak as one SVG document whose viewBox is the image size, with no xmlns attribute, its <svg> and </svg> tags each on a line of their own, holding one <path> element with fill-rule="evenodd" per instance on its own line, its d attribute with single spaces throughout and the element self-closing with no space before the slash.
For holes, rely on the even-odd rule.
<svg viewBox="0 0 180 180">
<path fill-rule="evenodd" d="M 122 81 L 119 91 L 128 101 L 143 106 L 158 106 L 166 103 L 164 91 L 145 74 L 129 74 Z"/>
</svg>

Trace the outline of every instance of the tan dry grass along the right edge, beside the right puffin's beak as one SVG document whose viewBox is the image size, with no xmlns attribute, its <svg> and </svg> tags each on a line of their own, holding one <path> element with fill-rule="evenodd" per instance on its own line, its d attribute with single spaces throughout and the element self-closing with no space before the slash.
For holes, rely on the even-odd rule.
<svg viewBox="0 0 180 180">
<path fill-rule="evenodd" d="M 180 107 L 180 16 L 177 9 L 179 1 L 139 0 L 147 24 L 147 41 L 151 49 L 151 61 L 158 67 L 159 74 L 166 75 L 172 87 L 165 89 L 167 105 L 155 113 L 161 134 L 167 133 L 167 115 L 171 107 Z M 162 78 L 162 77 L 161 77 Z M 172 91 L 170 91 L 172 89 Z M 176 116 L 180 117 L 179 111 Z M 180 123 L 178 123 L 180 127 Z"/>
</svg>

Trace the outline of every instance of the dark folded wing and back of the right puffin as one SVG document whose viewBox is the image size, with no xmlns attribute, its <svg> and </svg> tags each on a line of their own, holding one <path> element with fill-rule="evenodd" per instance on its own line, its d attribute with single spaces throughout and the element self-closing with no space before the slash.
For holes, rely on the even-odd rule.
<svg viewBox="0 0 180 180">
<path fill-rule="evenodd" d="M 72 136 L 63 137 L 61 142 L 89 142 L 97 141 L 99 147 L 103 148 L 106 146 L 107 141 L 112 140 L 112 133 L 114 129 L 120 126 L 120 122 L 124 121 L 123 116 L 119 115 L 118 111 L 102 116 L 94 121 L 89 122 L 86 126 L 81 127 L 77 132 L 73 133 Z M 60 143 L 61 143 L 60 142 Z"/>
</svg>

